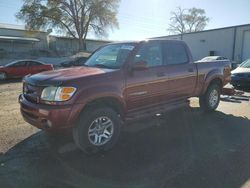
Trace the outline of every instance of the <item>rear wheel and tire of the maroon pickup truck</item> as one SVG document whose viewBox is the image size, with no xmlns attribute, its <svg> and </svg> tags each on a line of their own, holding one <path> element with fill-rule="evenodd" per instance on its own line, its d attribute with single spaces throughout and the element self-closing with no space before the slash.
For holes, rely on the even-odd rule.
<svg viewBox="0 0 250 188">
<path fill-rule="evenodd" d="M 211 84 L 208 86 L 204 95 L 199 97 L 200 107 L 205 112 L 215 111 L 220 103 L 221 87 L 219 84 Z"/>
</svg>

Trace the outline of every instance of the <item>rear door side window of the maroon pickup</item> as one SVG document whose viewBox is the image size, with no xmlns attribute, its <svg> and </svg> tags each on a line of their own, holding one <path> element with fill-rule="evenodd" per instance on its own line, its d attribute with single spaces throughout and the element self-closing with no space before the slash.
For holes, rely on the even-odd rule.
<svg viewBox="0 0 250 188">
<path fill-rule="evenodd" d="M 167 64 L 182 64 L 189 60 L 186 48 L 182 44 L 166 43 L 165 52 Z"/>
</svg>

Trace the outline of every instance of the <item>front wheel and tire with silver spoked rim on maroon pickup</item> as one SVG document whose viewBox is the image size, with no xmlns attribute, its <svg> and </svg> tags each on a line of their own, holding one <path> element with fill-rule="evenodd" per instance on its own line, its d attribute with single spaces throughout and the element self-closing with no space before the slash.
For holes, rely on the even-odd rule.
<svg viewBox="0 0 250 188">
<path fill-rule="evenodd" d="M 112 108 L 91 107 L 81 113 L 73 128 L 73 139 L 83 152 L 94 154 L 111 149 L 119 138 L 120 129 L 121 119 Z"/>
</svg>

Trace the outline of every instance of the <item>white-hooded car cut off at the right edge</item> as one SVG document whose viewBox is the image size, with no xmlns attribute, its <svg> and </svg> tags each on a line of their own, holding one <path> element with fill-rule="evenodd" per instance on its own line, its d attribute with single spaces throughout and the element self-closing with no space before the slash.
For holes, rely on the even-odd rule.
<svg viewBox="0 0 250 188">
<path fill-rule="evenodd" d="M 231 74 L 231 84 L 235 88 L 250 88 L 250 59 L 241 63 Z"/>
</svg>

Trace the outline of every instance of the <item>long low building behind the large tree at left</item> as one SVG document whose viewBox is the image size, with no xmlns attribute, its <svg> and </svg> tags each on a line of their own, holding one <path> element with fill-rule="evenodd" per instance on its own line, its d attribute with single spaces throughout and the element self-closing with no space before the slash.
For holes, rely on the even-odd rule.
<svg viewBox="0 0 250 188">
<path fill-rule="evenodd" d="M 86 51 L 93 52 L 111 41 L 86 39 Z M 29 31 L 24 26 L 0 23 L 1 52 L 23 53 L 30 51 L 54 51 L 70 55 L 78 52 L 78 40 L 71 37 L 52 36 L 44 31 Z"/>
</svg>

